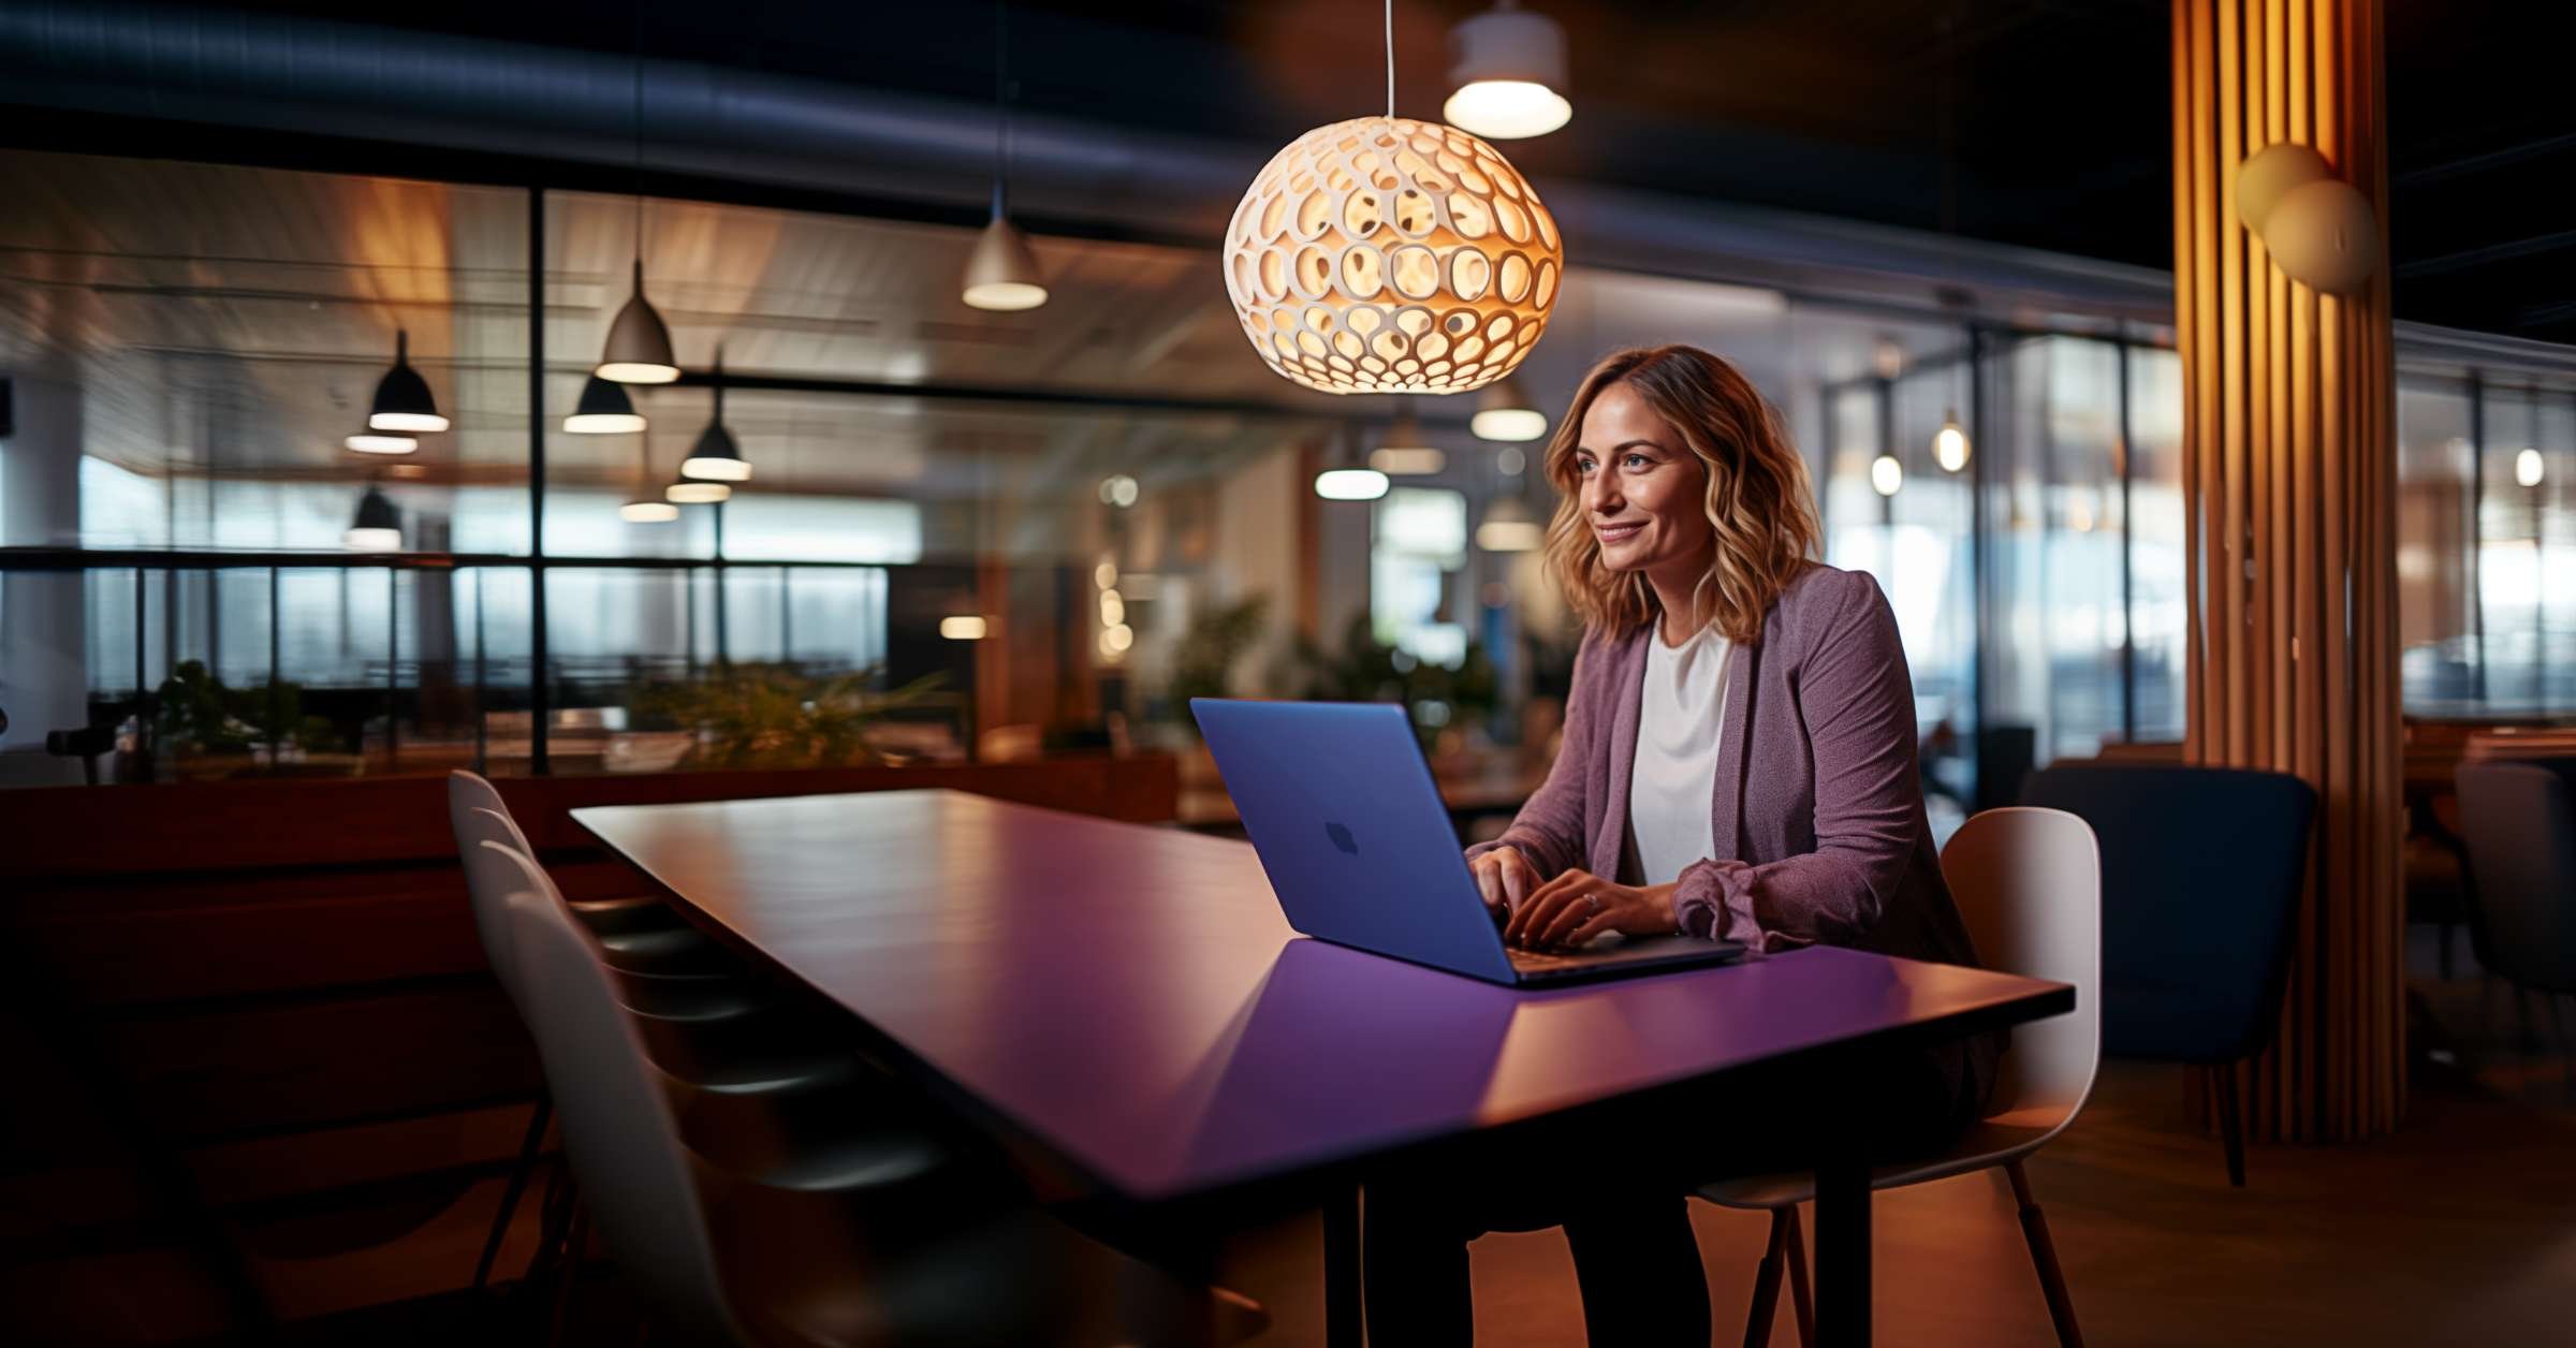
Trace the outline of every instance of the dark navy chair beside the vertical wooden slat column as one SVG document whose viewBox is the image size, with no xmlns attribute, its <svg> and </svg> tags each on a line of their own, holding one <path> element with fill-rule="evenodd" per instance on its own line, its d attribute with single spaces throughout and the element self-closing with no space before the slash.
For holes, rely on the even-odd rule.
<svg viewBox="0 0 2576 1348">
<path fill-rule="evenodd" d="M 2246 1183 L 2236 1064 L 2272 1041 L 2316 789 L 2287 773 L 2066 763 L 2022 804 L 2102 840 L 2102 1052 L 2210 1070 Z"/>
</svg>

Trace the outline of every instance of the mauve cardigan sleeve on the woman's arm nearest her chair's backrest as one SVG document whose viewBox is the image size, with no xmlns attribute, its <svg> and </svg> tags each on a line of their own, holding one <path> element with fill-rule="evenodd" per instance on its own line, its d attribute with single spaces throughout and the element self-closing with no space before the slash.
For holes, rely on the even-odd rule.
<svg viewBox="0 0 2576 1348">
<path fill-rule="evenodd" d="M 1904 884 L 1922 809 L 1914 678 L 1873 575 L 1850 572 L 1801 665 L 1798 714 L 1816 765 L 1816 851 L 1685 869 L 1674 894 L 1682 930 L 1759 951 L 1850 946 Z"/>
</svg>

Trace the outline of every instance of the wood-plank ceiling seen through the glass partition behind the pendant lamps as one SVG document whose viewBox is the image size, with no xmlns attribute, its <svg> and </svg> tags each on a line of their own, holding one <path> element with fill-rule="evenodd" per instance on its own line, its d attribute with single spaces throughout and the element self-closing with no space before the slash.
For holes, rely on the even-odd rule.
<svg viewBox="0 0 2576 1348">
<path fill-rule="evenodd" d="M 358 428 L 397 330 L 453 418 L 407 459 L 425 485 L 526 482 L 528 211 L 515 188 L 276 168 L 0 149 L 0 369 L 72 384 L 85 451 L 149 477 L 358 477 Z M 626 302 L 636 204 L 549 193 L 546 474 L 626 487 L 636 436 L 554 428 Z M 649 201 L 649 294 L 680 361 L 770 379 L 1082 389 L 1159 407 L 732 389 L 726 425 L 755 490 L 914 500 L 1064 500 L 1123 472 L 1149 490 L 1252 454 L 1332 441 L 1394 397 L 1324 400 L 1273 376 L 1236 325 L 1211 255 L 1038 240 L 1051 302 L 966 309 L 971 229 Z M 1574 268 L 1553 340 L 1522 366 L 1543 400 L 1607 348 L 1698 340 L 1783 402 L 1844 379 L 1883 343 L 1937 351 L 1955 330 L 1814 307 L 1775 291 Z M 1175 402 L 1211 410 L 1175 410 Z M 667 477 L 711 415 L 703 387 L 639 389 L 652 472 Z M 1270 410 L 1278 407 L 1278 410 Z M 1450 482 L 1492 472 L 1466 405 L 1425 405 Z"/>
</svg>

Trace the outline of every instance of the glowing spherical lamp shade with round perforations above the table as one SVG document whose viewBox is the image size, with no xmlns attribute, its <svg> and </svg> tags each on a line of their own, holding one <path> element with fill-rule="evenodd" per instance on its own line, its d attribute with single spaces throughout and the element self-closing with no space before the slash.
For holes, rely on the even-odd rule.
<svg viewBox="0 0 2576 1348">
<path fill-rule="evenodd" d="M 1226 227 L 1244 335 L 1327 394 L 1448 394 L 1512 374 L 1564 265 L 1556 219 L 1492 144 L 1401 116 L 1306 131 Z"/>
</svg>

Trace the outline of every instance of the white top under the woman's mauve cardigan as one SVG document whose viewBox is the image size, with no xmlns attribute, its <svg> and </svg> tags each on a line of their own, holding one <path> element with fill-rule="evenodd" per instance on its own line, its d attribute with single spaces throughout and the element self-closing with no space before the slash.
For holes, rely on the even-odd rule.
<svg viewBox="0 0 2576 1348">
<path fill-rule="evenodd" d="M 1700 629 L 1680 647 L 1646 634 L 1646 693 L 1628 773 L 1628 838 L 1643 884 L 1672 884 L 1716 853 L 1718 729 L 1726 722 L 1726 662 L 1734 642 Z"/>
</svg>

